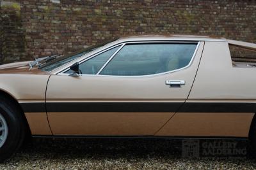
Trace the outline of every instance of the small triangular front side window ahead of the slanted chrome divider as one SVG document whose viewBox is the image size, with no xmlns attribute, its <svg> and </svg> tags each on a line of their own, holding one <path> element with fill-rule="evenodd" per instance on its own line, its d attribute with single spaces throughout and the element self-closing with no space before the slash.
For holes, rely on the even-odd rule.
<svg viewBox="0 0 256 170">
<path fill-rule="evenodd" d="M 79 64 L 79 70 L 81 71 L 81 74 L 97 74 L 100 68 L 107 62 L 107 60 L 113 55 L 113 53 L 116 52 L 116 50 L 119 47 L 120 46 L 116 46 L 111 50 L 100 53 L 99 55 L 93 57 L 92 59 L 88 59 L 83 63 Z M 71 74 L 73 73 L 73 71 L 69 69 L 65 73 Z"/>
</svg>

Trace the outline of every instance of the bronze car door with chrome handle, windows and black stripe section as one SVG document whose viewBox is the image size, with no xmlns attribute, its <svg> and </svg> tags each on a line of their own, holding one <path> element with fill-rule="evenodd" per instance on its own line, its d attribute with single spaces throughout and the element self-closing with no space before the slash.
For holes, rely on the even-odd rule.
<svg viewBox="0 0 256 170">
<path fill-rule="evenodd" d="M 122 43 L 49 78 L 54 135 L 150 136 L 187 99 L 204 42 Z"/>
</svg>

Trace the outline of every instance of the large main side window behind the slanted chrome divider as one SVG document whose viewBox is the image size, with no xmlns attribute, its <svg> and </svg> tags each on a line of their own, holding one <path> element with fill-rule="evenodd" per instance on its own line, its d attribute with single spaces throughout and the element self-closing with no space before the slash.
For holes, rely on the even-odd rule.
<svg viewBox="0 0 256 170">
<path fill-rule="evenodd" d="M 197 43 L 125 45 L 100 72 L 102 75 L 141 76 L 188 66 Z"/>
</svg>

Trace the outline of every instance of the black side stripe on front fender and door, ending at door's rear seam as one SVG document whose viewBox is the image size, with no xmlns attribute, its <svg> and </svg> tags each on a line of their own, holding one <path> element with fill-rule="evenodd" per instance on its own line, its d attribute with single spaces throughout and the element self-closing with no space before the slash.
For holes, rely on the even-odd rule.
<svg viewBox="0 0 256 170">
<path fill-rule="evenodd" d="M 175 112 L 182 103 L 46 103 L 48 112 Z M 20 103 L 24 112 L 43 112 L 44 103 Z"/>
</svg>

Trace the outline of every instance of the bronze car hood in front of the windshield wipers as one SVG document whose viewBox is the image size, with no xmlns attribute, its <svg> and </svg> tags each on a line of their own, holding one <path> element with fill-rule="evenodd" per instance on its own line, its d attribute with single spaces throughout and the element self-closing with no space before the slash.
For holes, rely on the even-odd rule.
<svg viewBox="0 0 256 170">
<path fill-rule="evenodd" d="M 31 61 L 13 62 L 0 65 L 0 74 L 48 74 L 37 67 L 29 69 L 28 63 Z"/>
</svg>

